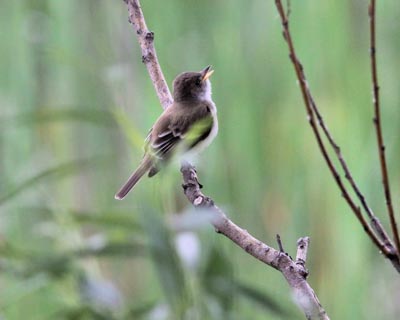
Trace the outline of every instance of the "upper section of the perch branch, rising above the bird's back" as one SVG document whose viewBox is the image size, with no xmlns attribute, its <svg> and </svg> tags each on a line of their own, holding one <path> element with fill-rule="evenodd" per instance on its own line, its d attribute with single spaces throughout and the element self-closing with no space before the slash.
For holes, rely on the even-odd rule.
<svg viewBox="0 0 400 320">
<path fill-rule="evenodd" d="M 158 63 L 156 49 L 154 48 L 154 33 L 147 29 L 139 0 L 124 1 L 128 5 L 129 22 L 135 29 L 139 45 L 142 49 L 142 62 L 147 67 L 161 106 L 163 109 L 166 109 L 172 104 L 173 99 Z"/>
</svg>

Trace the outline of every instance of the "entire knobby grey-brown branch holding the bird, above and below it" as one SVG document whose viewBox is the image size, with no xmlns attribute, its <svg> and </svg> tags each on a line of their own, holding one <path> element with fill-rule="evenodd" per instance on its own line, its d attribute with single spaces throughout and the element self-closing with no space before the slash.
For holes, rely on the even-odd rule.
<svg viewBox="0 0 400 320">
<path fill-rule="evenodd" d="M 172 103 L 172 97 L 168 90 L 168 86 L 165 83 L 161 67 L 155 54 L 153 45 L 154 34 L 147 30 L 139 1 L 124 1 L 128 5 L 129 19 L 136 30 L 138 41 L 142 48 L 143 62 L 147 66 L 161 105 L 165 109 Z M 298 259 L 296 262 L 293 261 L 290 256 L 282 252 L 282 244 L 280 245 L 282 251 L 269 247 L 229 220 L 227 216 L 214 205 L 213 200 L 206 197 L 200 191 L 197 174 L 191 164 L 183 164 L 181 172 L 183 175 L 183 188 L 186 197 L 195 207 L 208 208 L 215 214 L 211 223 L 216 228 L 217 232 L 225 235 L 256 259 L 279 270 L 292 288 L 296 302 L 304 311 L 307 319 L 329 320 L 328 315 L 321 306 L 313 289 L 306 281 L 308 272 L 305 271 L 306 269 L 304 265 L 307 255 L 308 238 L 302 238 L 307 239 L 305 240 L 307 244 L 305 247 L 302 245 L 302 249 L 300 249 L 301 246 L 298 244 Z M 299 239 L 299 243 L 302 239 Z M 300 251 L 302 251 L 303 254 L 299 254 Z"/>
</svg>

